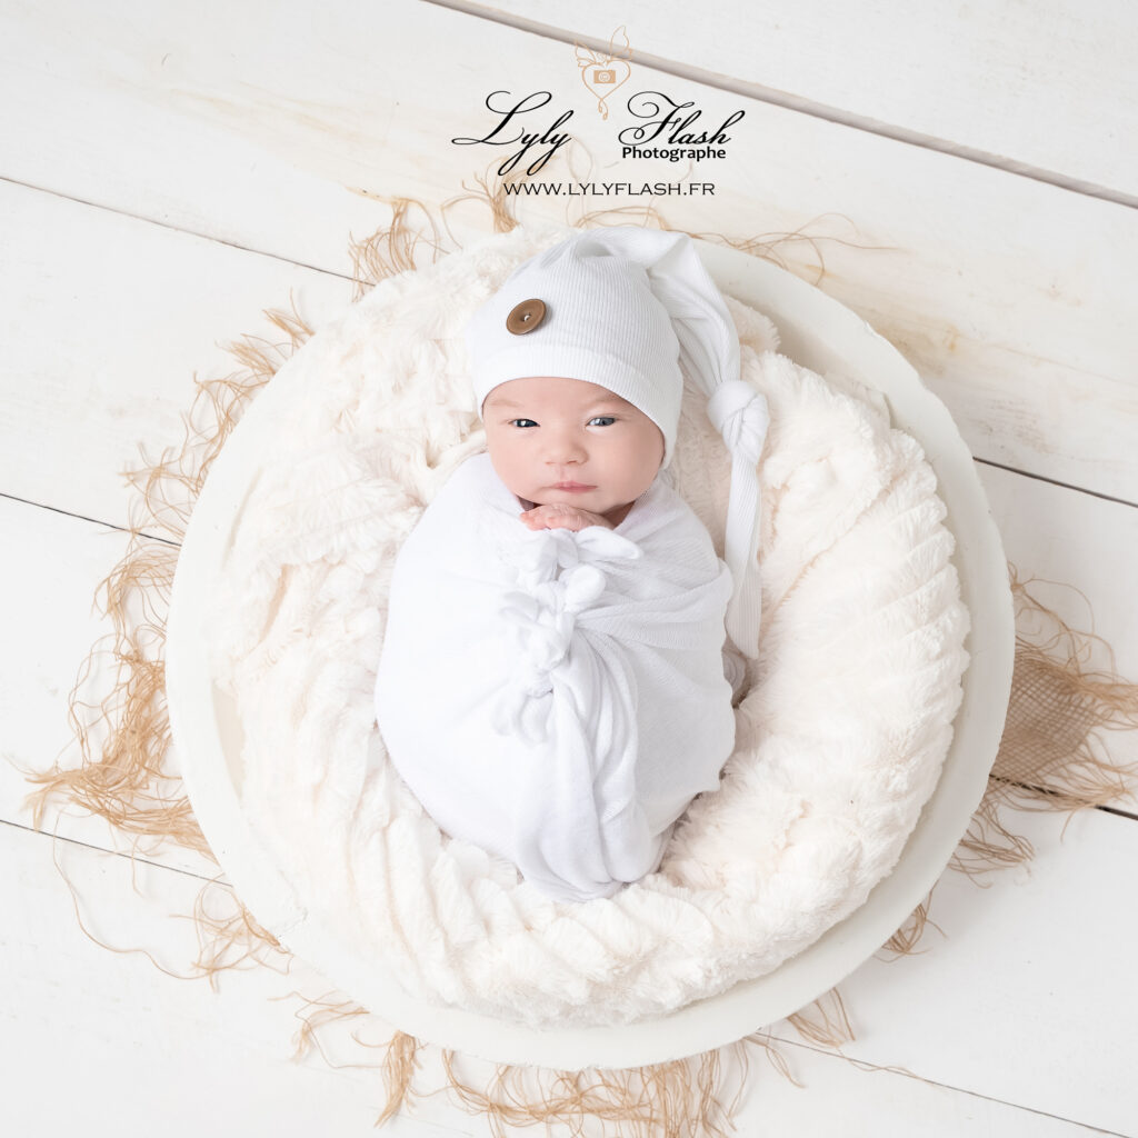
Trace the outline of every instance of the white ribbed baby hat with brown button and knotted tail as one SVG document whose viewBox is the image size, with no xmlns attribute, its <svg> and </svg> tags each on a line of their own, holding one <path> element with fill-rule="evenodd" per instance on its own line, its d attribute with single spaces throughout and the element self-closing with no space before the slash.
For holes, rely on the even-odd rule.
<svg viewBox="0 0 1138 1138">
<path fill-rule="evenodd" d="M 768 414 L 740 379 L 739 336 L 690 237 L 613 226 L 584 230 L 519 265 L 467 328 L 481 413 L 500 384 L 562 376 L 599 384 L 644 412 L 675 451 L 684 374 L 732 455 L 724 560 L 734 591 L 727 633 L 758 654 L 758 462 Z M 681 370 L 683 369 L 683 371 Z"/>
</svg>

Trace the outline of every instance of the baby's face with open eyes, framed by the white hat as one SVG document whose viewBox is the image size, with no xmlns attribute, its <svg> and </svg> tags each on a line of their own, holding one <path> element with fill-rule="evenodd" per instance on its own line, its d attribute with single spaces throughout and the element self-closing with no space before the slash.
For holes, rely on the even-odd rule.
<svg viewBox="0 0 1138 1138">
<path fill-rule="evenodd" d="M 483 420 L 490 463 L 514 494 L 537 505 L 575 505 L 615 525 L 663 461 L 660 428 L 585 380 L 511 379 L 486 397 Z"/>
</svg>

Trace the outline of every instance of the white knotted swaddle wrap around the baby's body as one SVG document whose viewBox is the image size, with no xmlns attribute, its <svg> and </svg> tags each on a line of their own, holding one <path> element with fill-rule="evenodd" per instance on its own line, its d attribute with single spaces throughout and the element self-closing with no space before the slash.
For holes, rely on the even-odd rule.
<svg viewBox="0 0 1138 1138">
<path fill-rule="evenodd" d="M 655 868 L 735 741 L 731 572 L 665 472 L 616 529 L 531 530 L 489 455 L 399 550 L 376 685 L 401 775 L 453 838 L 558 898 Z"/>
</svg>

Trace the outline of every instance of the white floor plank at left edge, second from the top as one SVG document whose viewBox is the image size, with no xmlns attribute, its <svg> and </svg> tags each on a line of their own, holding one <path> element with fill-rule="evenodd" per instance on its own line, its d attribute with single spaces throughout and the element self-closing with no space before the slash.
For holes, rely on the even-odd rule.
<svg viewBox="0 0 1138 1138">
<path fill-rule="evenodd" d="M 124 526 L 126 470 L 181 445 L 193 380 L 239 365 L 222 345 L 287 338 L 265 308 L 313 325 L 346 307 L 348 281 L 0 183 L 13 335 L 0 362 L 0 488 Z"/>
</svg>

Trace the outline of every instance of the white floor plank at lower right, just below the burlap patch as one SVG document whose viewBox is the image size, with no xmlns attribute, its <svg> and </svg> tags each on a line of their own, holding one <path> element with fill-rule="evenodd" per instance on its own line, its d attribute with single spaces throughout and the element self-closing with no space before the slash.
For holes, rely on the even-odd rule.
<svg viewBox="0 0 1138 1138">
<path fill-rule="evenodd" d="M 858 1034 L 846 1054 L 1131 1133 L 1138 916 L 1120 898 L 1138 825 L 1088 810 L 1016 811 L 1012 826 L 1031 863 L 987 889 L 946 874 L 931 910 L 943 937 L 929 930 L 924 956 L 875 958 L 842 982 Z"/>
</svg>

